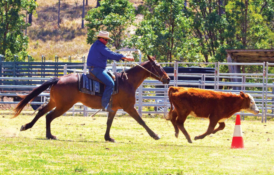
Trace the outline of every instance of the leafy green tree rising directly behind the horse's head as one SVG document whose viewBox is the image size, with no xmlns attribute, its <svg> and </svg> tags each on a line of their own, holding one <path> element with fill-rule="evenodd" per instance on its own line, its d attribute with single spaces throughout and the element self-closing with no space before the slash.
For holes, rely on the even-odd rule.
<svg viewBox="0 0 274 175">
<path fill-rule="evenodd" d="M 185 15 L 184 0 L 147 0 L 144 20 L 138 24 L 134 45 L 143 52 L 157 55 L 163 62 L 191 61 L 198 58 L 199 51 L 189 47 L 196 38 L 189 33 L 192 21 Z"/>
</svg>

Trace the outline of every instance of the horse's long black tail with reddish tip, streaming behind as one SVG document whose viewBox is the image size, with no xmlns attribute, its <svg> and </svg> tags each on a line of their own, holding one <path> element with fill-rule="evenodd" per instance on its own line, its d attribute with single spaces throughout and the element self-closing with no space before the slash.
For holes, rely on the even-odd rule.
<svg viewBox="0 0 274 175">
<path fill-rule="evenodd" d="M 12 111 L 13 117 L 11 118 L 17 117 L 21 113 L 23 108 L 29 103 L 29 101 L 33 101 L 39 94 L 41 94 L 48 88 L 51 88 L 52 85 L 55 85 L 58 81 L 59 81 L 59 78 L 57 77 L 51 78 L 49 81 L 46 81 L 45 83 L 43 83 L 41 86 L 34 88 L 29 94 L 18 95 L 19 97 L 23 99 L 18 103 L 16 108 Z"/>
</svg>

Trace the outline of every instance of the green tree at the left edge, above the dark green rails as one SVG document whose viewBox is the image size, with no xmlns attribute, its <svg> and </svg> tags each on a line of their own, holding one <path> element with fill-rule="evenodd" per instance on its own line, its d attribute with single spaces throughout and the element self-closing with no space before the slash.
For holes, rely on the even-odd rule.
<svg viewBox="0 0 274 175">
<path fill-rule="evenodd" d="M 25 13 L 32 13 L 37 4 L 34 0 L 6 0 L 0 1 L 0 54 L 6 60 L 13 60 L 14 55 L 21 56 L 25 60 L 27 55 L 28 37 L 23 31 L 29 26 L 25 23 Z"/>
</svg>

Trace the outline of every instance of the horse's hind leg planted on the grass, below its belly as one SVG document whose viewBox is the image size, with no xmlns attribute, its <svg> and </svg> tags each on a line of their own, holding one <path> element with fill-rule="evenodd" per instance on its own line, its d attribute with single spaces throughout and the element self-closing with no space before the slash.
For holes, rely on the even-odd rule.
<svg viewBox="0 0 274 175">
<path fill-rule="evenodd" d="M 60 115 L 64 114 L 67 110 L 69 110 L 71 107 L 61 107 L 61 108 L 55 108 L 53 111 L 51 111 L 48 115 L 46 115 L 46 137 L 48 139 L 54 139 L 57 140 L 57 137 L 51 134 L 50 131 L 50 123 L 53 119 L 59 117 Z"/>
</svg>

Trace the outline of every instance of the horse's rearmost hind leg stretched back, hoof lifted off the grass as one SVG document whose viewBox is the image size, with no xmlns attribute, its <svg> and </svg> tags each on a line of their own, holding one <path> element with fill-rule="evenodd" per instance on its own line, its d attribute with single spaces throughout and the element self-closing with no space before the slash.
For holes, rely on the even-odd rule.
<svg viewBox="0 0 274 175">
<path fill-rule="evenodd" d="M 52 101 L 49 101 L 47 105 L 45 105 L 43 108 L 41 108 L 40 110 L 38 110 L 38 113 L 36 114 L 36 116 L 34 117 L 34 119 L 31 122 L 29 122 L 29 123 L 21 126 L 20 131 L 25 131 L 25 130 L 31 128 L 37 122 L 37 120 L 40 117 L 42 117 L 45 113 L 48 113 L 54 107 L 55 107 L 55 103 L 52 102 Z"/>
</svg>

